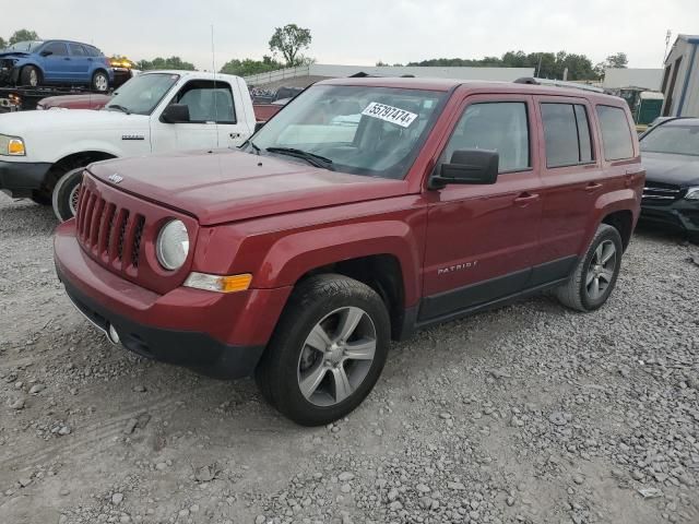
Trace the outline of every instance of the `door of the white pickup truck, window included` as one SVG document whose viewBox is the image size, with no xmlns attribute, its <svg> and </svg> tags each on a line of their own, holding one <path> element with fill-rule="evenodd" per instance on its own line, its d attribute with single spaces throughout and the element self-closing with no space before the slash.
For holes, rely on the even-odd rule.
<svg viewBox="0 0 699 524">
<path fill-rule="evenodd" d="M 190 80 L 170 98 L 169 104 L 189 108 L 190 121 L 166 123 L 151 119 L 154 152 L 226 147 L 242 142 L 242 126 L 237 122 L 233 90 L 226 81 Z"/>
</svg>

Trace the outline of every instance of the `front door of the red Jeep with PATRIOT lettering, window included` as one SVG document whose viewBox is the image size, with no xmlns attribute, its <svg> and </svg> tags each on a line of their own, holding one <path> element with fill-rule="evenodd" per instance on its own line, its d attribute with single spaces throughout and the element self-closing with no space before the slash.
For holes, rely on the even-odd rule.
<svg viewBox="0 0 699 524">
<path fill-rule="evenodd" d="M 495 184 L 449 184 L 428 202 L 419 322 L 447 319 L 529 287 L 542 219 L 536 127 L 528 95 L 472 95 L 436 164 L 458 150 L 495 150 Z"/>
</svg>

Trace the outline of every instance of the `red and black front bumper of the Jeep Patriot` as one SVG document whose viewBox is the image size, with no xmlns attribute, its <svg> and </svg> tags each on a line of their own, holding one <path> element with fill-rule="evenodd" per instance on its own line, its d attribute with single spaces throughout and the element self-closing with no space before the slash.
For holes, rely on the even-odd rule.
<svg viewBox="0 0 699 524">
<path fill-rule="evenodd" d="M 149 358 L 227 379 L 254 371 L 291 288 L 230 295 L 177 288 L 157 295 L 90 259 L 73 224 L 56 230 L 56 272 L 93 324 L 103 331 L 112 325 L 127 349 Z"/>
</svg>

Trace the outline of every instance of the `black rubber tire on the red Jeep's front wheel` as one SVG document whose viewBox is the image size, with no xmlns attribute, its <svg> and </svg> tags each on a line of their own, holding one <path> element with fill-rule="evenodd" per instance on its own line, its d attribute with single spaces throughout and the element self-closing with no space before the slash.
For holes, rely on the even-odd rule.
<svg viewBox="0 0 699 524">
<path fill-rule="evenodd" d="M 321 321 L 330 319 L 335 311 L 343 308 L 362 310 L 365 317 L 362 317 L 359 322 L 374 329 L 376 342 L 374 359 L 370 362 L 363 361 L 367 362 L 363 364 L 364 378 L 355 382 L 352 393 L 346 398 L 332 405 L 317 405 L 310 402 L 300 389 L 303 357 L 306 355 L 305 352 L 309 350 L 306 343 L 311 331 L 320 325 Z M 268 402 L 295 422 L 303 426 L 321 426 L 332 422 L 355 409 L 376 384 L 386 364 L 390 332 L 390 319 L 386 305 L 369 286 L 336 274 L 310 277 L 301 282 L 289 298 L 256 370 L 257 383 Z M 351 344 L 350 340 L 347 343 Z M 325 366 L 325 356 L 318 357 L 322 360 L 318 364 Z M 328 373 L 322 380 L 330 381 L 332 389 L 336 383 L 333 381 L 335 377 L 333 369 L 336 371 L 337 367 L 341 367 L 343 376 L 351 378 L 350 373 L 353 369 L 357 369 L 352 368 L 356 362 L 335 364 L 334 368 L 328 368 Z M 323 383 L 320 382 L 320 384 Z M 335 400 L 336 395 L 335 390 Z"/>
</svg>

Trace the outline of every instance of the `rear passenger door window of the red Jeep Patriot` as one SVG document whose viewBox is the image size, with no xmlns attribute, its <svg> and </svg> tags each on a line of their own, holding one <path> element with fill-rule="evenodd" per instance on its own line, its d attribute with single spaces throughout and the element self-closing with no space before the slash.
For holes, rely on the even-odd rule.
<svg viewBox="0 0 699 524">
<path fill-rule="evenodd" d="M 546 166 L 565 167 L 593 160 L 590 123 L 581 104 L 543 103 Z"/>
</svg>

